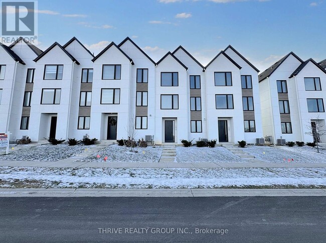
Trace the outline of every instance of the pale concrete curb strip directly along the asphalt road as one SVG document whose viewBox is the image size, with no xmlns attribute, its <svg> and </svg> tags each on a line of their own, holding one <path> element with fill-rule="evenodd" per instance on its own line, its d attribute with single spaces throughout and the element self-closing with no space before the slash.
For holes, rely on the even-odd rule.
<svg viewBox="0 0 326 243">
<path fill-rule="evenodd" d="M 207 196 L 326 196 L 326 189 L 9 189 L 0 197 L 207 197 Z"/>
</svg>

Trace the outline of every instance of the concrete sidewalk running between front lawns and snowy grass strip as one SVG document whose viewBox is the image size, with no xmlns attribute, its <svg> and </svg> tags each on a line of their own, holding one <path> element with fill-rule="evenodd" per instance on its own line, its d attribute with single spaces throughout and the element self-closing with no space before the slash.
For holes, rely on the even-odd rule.
<svg viewBox="0 0 326 243">
<path fill-rule="evenodd" d="M 0 166 L 53 168 L 326 168 L 326 163 L 176 163 L 176 162 L 76 162 L 75 158 L 59 161 L 0 160 Z"/>
</svg>

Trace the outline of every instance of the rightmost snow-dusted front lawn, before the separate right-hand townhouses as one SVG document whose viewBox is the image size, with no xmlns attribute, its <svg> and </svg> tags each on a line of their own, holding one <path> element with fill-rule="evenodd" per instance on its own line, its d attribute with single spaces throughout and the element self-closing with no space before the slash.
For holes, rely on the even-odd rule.
<svg viewBox="0 0 326 243">
<path fill-rule="evenodd" d="M 291 163 L 326 163 L 325 150 L 320 150 L 320 153 L 317 153 L 316 148 L 309 146 L 248 146 L 243 151 L 266 162 L 288 163 L 288 159 L 290 159 Z"/>
</svg>

